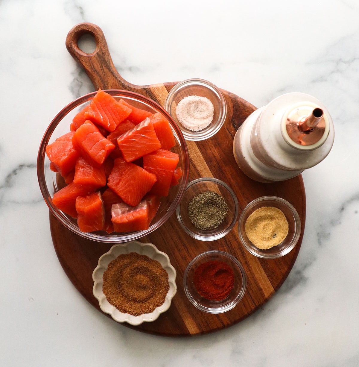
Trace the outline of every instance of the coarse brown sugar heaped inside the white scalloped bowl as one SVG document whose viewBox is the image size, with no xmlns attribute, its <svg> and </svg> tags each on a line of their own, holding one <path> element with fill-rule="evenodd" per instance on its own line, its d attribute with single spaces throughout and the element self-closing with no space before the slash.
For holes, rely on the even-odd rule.
<svg viewBox="0 0 359 367">
<path fill-rule="evenodd" d="M 139 316 L 161 306 L 169 291 L 168 273 L 157 260 L 122 254 L 103 273 L 103 293 L 120 312 Z"/>
</svg>

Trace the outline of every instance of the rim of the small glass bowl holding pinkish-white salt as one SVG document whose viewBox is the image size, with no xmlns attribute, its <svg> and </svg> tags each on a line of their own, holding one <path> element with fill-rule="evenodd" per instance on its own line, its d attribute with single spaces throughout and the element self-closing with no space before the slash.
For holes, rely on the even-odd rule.
<svg viewBox="0 0 359 367">
<path fill-rule="evenodd" d="M 203 130 L 200 131 L 191 131 L 189 129 L 186 129 L 185 127 L 182 126 L 182 124 L 177 120 L 176 116 L 173 116 L 171 113 L 171 105 L 173 100 L 175 99 L 175 96 L 177 94 L 177 92 L 179 92 L 180 90 L 183 90 L 183 88 L 186 88 L 187 86 L 191 86 L 191 85 L 198 85 L 204 88 L 207 88 L 208 90 L 210 90 L 214 95 L 216 95 L 216 98 L 219 102 L 219 118 L 217 119 L 217 121 L 213 121 L 209 124 L 208 127 L 204 128 Z M 188 94 L 187 97 L 191 95 Z M 205 79 L 201 79 L 201 78 L 191 78 L 191 79 L 186 79 L 183 81 L 180 81 L 179 83 L 177 83 L 168 93 L 165 103 L 164 103 L 164 109 L 166 110 L 166 112 L 171 115 L 172 119 L 175 120 L 175 122 L 177 123 L 177 126 L 180 128 L 180 130 L 182 131 L 183 137 L 186 140 L 192 140 L 192 141 L 201 141 L 201 140 L 205 140 L 208 139 L 210 137 L 212 137 L 213 135 L 215 135 L 220 128 L 223 126 L 224 121 L 226 120 L 226 116 L 227 116 L 227 103 L 226 103 L 226 99 L 223 96 L 223 93 L 220 91 L 220 89 L 213 84 L 212 82 L 210 82 L 209 80 L 205 80 Z"/>
</svg>

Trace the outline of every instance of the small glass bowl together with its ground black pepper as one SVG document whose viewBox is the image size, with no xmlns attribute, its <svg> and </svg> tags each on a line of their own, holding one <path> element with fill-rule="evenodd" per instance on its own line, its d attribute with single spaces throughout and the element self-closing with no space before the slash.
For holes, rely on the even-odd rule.
<svg viewBox="0 0 359 367">
<path fill-rule="evenodd" d="M 191 237 L 218 240 L 226 236 L 237 221 L 237 196 L 227 183 L 217 178 L 198 178 L 188 183 L 176 214 Z"/>
</svg>

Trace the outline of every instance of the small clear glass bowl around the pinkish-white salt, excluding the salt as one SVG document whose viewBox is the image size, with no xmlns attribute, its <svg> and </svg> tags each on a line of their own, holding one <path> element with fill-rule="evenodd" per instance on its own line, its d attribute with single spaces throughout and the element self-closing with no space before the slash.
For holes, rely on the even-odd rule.
<svg viewBox="0 0 359 367">
<path fill-rule="evenodd" d="M 177 104 L 185 97 L 197 95 L 208 98 L 214 107 L 213 120 L 203 130 L 192 131 L 180 124 L 176 116 Z M 205 140 L 216 134 L 223 126 L 227 115 L 227 105 L 223 94 L 214 84 L 204 79 L 187 79 L 176 84 L 169 91 L 164 104 L 165 110 L 173 117 L 186 140 Z"/>
</svg>

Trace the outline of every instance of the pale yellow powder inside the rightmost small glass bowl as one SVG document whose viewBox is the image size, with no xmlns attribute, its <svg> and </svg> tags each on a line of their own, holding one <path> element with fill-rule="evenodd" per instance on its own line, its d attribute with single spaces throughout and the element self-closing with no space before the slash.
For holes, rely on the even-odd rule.
<svg viewBox="0 0 359 367">
<path fill-rule="evenodd" d="M 288 235 L 288 221 L 284 213 L 275 207 L 261 207 L 246 220 L 245 232 L 254 246 L 268 250 L 278 246 Z"/>
</svg>

